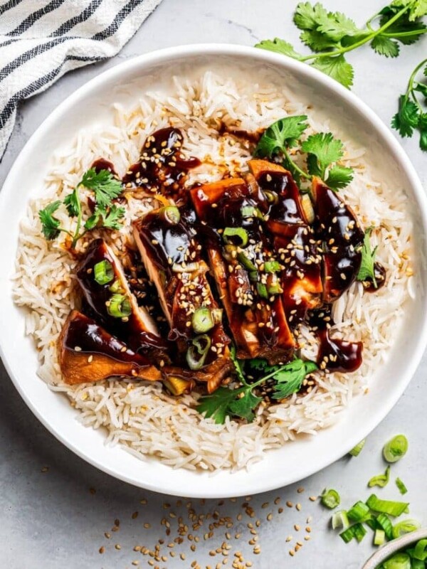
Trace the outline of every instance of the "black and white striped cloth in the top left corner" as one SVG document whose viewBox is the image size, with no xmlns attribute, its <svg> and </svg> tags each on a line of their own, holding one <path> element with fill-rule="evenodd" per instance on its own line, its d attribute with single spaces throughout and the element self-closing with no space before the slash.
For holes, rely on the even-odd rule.
<svg viewBox="0 0 427 569">
<path fill-rule="evenodd" d="M 0 159 L 14 128 L 20 100 L 43 91 L 67 71 L 118 53 L 160 1 L 1 3 Z"/>
</svg>

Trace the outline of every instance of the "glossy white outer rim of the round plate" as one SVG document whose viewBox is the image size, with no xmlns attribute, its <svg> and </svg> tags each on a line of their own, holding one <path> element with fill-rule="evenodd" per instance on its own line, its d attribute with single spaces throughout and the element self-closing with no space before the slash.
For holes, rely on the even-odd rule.
<svg viewBox="0 0 427 569">
<path fill-rule="evenodd" d="M 384 124 L 384 122 L 378 117 L 378 115 L 376 115 L 376 113 L 373 110 L 371 110 L 371 108 L 364 101 L 359 99 L 357 95 L 354 95 L 353 92 L 347 90 L 345 87 L 343 87 L 333 79 L 327 77 L 327 75 L 324 75 L 319 70 L 311 68 L 309 65 L 306 65 L 304 63 L 301 63 L 297 60 L 288 58 L 287 56 L 278 53 L 273 53 L 266 50 L 260 50 L 258 48 L 253 48 L 251 46 L 238 46 L 228 43 L 196 43 L 196 44 L 174 46 L 170 48 L 154 50 L 148 53 L 144 53 L 142 55 L 138 55 L 137 57 L 130 58 L 124 62 L 117 63 L 117 65 L 113 65 L 111 68 L 103 71 L 102 73 L 98 73 L 97 75 L 95 75 L 94 78 L 88 80 L 86 83 L 81 85 L 78 88 L 78 90 L 75 90 L 75 92 L 66 97 L 65 100 L 63 100 L 63 102 L 61 102 L 60 105 L 58 105 L 58 107 L 56 107 L 48 115 L 48 117 L 46 117 L 46 119 L 44 119 L 43 122 L 41 122 L 41 124 L 37 127 L 35 132 L 31 134 L 31 137 L 28 139 L 28 141 L 21 149 L 19 154 L 16 156 L 16 159 L 14 160 L 14 163 L 11 166 L 9 174 L 6 176 L 3 188 L 0 191 L 0 211 L 2 209 L 2 206 L 4 206 L 4 201 L 6 200 L 6 192 L 9 193 L 8 188 L 10 186 L 10 180 L 14 178 L 15 176 L 14 172 L 19 167 L 20 162 L 26 158 L 26 154 L 28 154 L 28 151 L 31 149 L 34 142 L 36 142 L 39 137 L 42 137 L 43 132 L 46 129 L 48 129 L 48 127 L 50 127 L 51 124 L 54 124 L 56 122 L 57 117 L 62 115 L 63 112 L 66 112 L 69 107 L 72 107 L 74 102 L 78 100 L 81 95 L 84 95 L 85 91 L 90 91 L 92 87 L 96 87 L 97 85 L 102 85 L 102 83 L 105 80 L 110 80 L 112 78 L 115 78 L 115 76 L 120 77 L 122 73 L 125 73 L 127 70 L 132 70 L 132 68 L 138 68 L 139 66 L 147 67 L 148 65 L 153 63 L 162 63 L 171 57 L 172 58 L 185 57 L 185 56 L 197 57 L 202 55 L 218 55 L 218 56 L 229 55 L 231 57 L 241 55 L 241 56 L 255 58 L 255 60 L 258 60 L 260 63 L 264 62 L 264 63 L 272 63 L 278 65 L 279 68 L 281 67 L 284 70 L 288 70 L 290 71 L 290 73 L 292 73 L 292 70 L 296 70 L 297 73 L 299 73 L 303 77 L 305 76 L 305 78 L 313 80 L 314 83 L 321 83 L 322 85 L 325 85 L 325 87 L 334 91 L 339 98 L 344 99 L 344 101 L 347 102 L 347 104 L 349 104 L 350 106 L 352 106 L 355 110 L 357 109 L 360 113 L 362 113 L 362 115 L 364 115 L 364 117 L 368 119 L 369 122 L 371 122 L 371 124 L 374 125 L 376 132 L 380 134 L 382 139 L 385 139 L 391 151 L 393 151 L 393 153 L 396 154 L 396 156 L 399 156 L 399 164 L 403 169 L 404 174 L 411 182 L 411 189 L 414 195 L 416 196 L 418 204 L 421 206 L 420 219 L 424 233 L 426 233 L 427 196 L 426 193 L 423 191 L 423 186 L 421 184 L 420 179 L 418 178 L 418 174 L 416 174 L 416 171 L 410 159 L 408 158 L 408 155 L 404 151 L 403 147 L 401 147 L 401 145 L 396 140 L 391 131 L 388 129 L 388 127 L 386 127 L 386 124 Z M 7 281 L 9 281 L 9 278 L 7 279 Z M 426 302 L 424 304 L 426 304 Z M 226 488 L 222 489 L 221 492 L 218 493 L 219 489 L 216 488 L 216 484 L 210 484 L 209 485 L 210 491 L 206 489 L 204 489 L 203 491 L 199 489 L 194 489 L 194 490 L 191 489 L 190 490 L 191 497 L 225 498 L 225 497 L 232 497 L 239 495 L 247 495 L 248 493 L 258 494 L 263 491 L 270 491 L 273 489 L 277 489 L 278 487 L 283 486 L 284 484 L 285 485 L 292 484 L 294 482 L 297 482 L 297 480 L 304 479 L 305 477 L 314 474 L 315 472 L 320 472 L 320 470 L 324 469 L 325 467 L 332 464 L 332 462 L 335 462 L 337 459 L 344 456 L 344 454 L 346 454 L 352 447 L 354 447 L 354 445 L 357 444 L 357 442 L 359 442 L 360 438 L 366 437 L 369 434 L 369 432 L 371 432 L 371 430 L 373 430 L 377 425 L 379 425 L 379 422 L 381 422 L 381 420 L 383 420 L 386 417 L 386 415 L 388 415 L 391 408 L 393 408 L 394 405 L 396 405 L 402 393 L 404 393 L 404 390 L 408 386 L 408 383 L 413 378 L 413 374 L 415 373 L 416 368 L 418 368 L 418 365 L 421 361 L 426 345 L 427 345 L 427 319 L 424 319 L 423 323 L 421 324 L 421 334 L 418 336 L 417 344 L 412 350 L 411 361 L 408 363 L 408 366 L 406 368 L 405 380 L 402 382 L 399 388 L 396 388 L 394 390 L 394 396 L 390 399 L 389 404 L 385 405 L 384 407 L 381 407 L 381 411 L 377 412 L 374 415 L 374 419 L 371 418 L 370 421 L 367 421 L 363 425 L 363 427 L 361 427 L 357 437 L 354 437 L 354 435 L 348 437 L 346 445 L 343 445 L 342 447 L 339 447 L 339 449 L 336 449 L 334 452 L 328 454 L 327 458 L 317 460 L 317 462 L 315 463 L 315 467 L 306 467 L 306 469 L 302 473 L 300 473 L 297 478 L 288 477 L 285 479 L 285 477 L 283 477 L 283 482 L 280 485 L 277 482 L 269 483 L 268 480 L 265 480 L 265 478 L 257 479 L 256 477 L 253 477 L 251 488 L 248 489 L 248 487 L 246 486 L 245 489 L 242 491 L 242 494 L 239 494 L 238 491 L 236 491 L 235 489 L 233 489 L 233 491 L 229 491 Z M 23 385 L 21 385 L 19 377 L 12 371 L 11 364 L 9 363 L 9 360 L 6 358 L 1 341 L 0 341 L 0 357 L 4 363 L 9 378 L 11 378 L 11 381 L 14 383 L 16 390 L 18 390 L 19 394 L 21 395 L 21 397 L 23 398 L 24 402 L 31 410 L 31 412 L 34 415 L 36 415 L 38 420 L 40 420 L 40 422 L 48 429 L 49 432 L 51 432 L 58 440 L 60 440 L 60 442 L 63 443 L 63 445 L 68 447 L 80 458 L 83 458 L 86 462 L 92 464 L 94 467 L 102 470 L 103 472 L 110 474 L 112 477 L 121 479 L 122 481 L 127 482 L 129 484 L 133 484 L 135 486 L 147 490 L 157 491 L 159 493 L 172 494 L 176 496 L 181 495 L 182 492 L 180 492 L 179 489 L 176 488 L 176 485 L 174 485 L 173 483 L 169 485 L 163 484 L 161 488 L 159 488 L 155 484 L 144 483 L 144 481 L 141 481 L 139 479 L 137 480 L 130 476 L 126 476 L 125 474 L 115 472 L 114 469 L 108 467 L 105 464 L 102 464 L 102 462 L 99 462 L 97 459 L 91 457 L 90 454 L 88 454 L 87 452 L 79 449 L 79 447 L 76 447 L 73 444 L 73 442 L 67 440 L 66 437 L 63 437 L 60 433 L 56 431 L 55 427 L 53 427 L 53 425 L 51 425 L 51 423 L 48 422 L 48 420 L 46 420 L 45 417 L 43 417 L 42 413 L 38 410 L 37 405 L 30 398 L 28 398 L 28 395 L 26 394 Z M 363 437 L 360 437 L 361 432 L 363 433 Z M 274 452 L 274 450 L 268 452 Z M 250 476 L 250 474 L 251 473 L 249 472 L 248 476 Z M 232 476 L 233 474 L 230 473 L 230 475 Z"/>
</svg>

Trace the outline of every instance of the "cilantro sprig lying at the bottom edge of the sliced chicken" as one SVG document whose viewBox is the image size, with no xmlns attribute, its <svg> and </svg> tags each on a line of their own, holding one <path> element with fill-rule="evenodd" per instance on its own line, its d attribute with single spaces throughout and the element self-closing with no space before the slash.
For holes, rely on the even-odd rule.
<svg viewBox="0 0 427 569">
<path fill-rule="evenodd" d="M 231 350 L 231 359 L 236 368 L 236 375 L 243 386 L 237 389 L 220 387 L 211 395 L 205 395 L 197 406 L 199 413 L 206 418 L 213 418 L 216 423 L 225 422 L 227 417 L 238 417 L 248 422 L 255 418 L 255 409 L 262 398 L 253 393 L 253 390 L 268 380 L 275 381 L 273 385 L 273 399 L 285 399 L 300 390 L 305 377 L 317 370 L 313 361 L 295 359 L 281 366 L 269 366 L 265 360 L 248 360 L 246 365 L 251 376 L 260 375 L 253 383 L 248 383 L 243 373 L 243 361 L 236 358 L 236 351 Z"/>
</svg>

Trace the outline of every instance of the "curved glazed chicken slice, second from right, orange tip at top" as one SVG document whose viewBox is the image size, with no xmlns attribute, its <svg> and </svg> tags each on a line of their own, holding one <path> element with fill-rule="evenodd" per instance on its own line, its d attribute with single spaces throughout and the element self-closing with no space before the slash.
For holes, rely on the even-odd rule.
<svg viewBox="0 0 427 569">
<path fill-rule="evenodd" d="M 283 265 L 283 304 L 293 327 L 305 319 L 307 310 L 320 305 L 322 294 L 320 249 L 310 226 L 310 198 L 301 197 L 292 174 L 279 164 L 251 160 L 249 167 L 270 201 L 265 225 Z"/>
</svg>

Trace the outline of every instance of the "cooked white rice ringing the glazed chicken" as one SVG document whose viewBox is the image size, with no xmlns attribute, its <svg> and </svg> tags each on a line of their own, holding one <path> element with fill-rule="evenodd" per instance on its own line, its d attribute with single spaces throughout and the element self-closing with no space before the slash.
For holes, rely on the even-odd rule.
<svg viewBox="0 0 427 569">
<path fill-rule="evenodd" d="M 337 420 L 354 395 L 367 392 L 399 334 L 404 304 L 412 295 L 412 224 L 406 198 L 401 188 L 386 187 L 374 179 L 364 149 L 345 140 L 344 162 L 355 174 L 341 196 L 364 227 L 376 228 L 372 240 L 379 246 L 377 258 L 387 271 L 386 286 L 375 294 L 364 294 L 362 284 L 354 283 L 334 304 L 335 334 L 364 342 L 364 361 L 358 371 L 320 376 L 310 393 L 292 395 L 286 403 L 269 408 L 261 406 L 257 420 L 249 425 L 233 420 L 216 425 L 205 420 L 193 408 L 194 396 L 173 398 L 158 383 L 125 379 L 70 387 L 62 382 L 56 340 L 77 302 L 74 263 L 60 244 L 43 238 L 38 210 L 53 199 L 63 199 L 101 156 L 124 174 L 137 161 L 147 135 L 169 124 L 182 127 L 184 151 L 204 160 L 204 166 L 192 174 L 193 181 L 219 179 L 226 170 L 244 167 L 250 158 L 246 143 L 218 136 L 215 125 L 220 119 L 253 131 L 286 114 L 307 114 L 307 132 L 329 129 L 324 116 L 317 117 L 295 95 L 273 83 L 231 80 L 210 71 L 197 80 L 174 78 L 168 90 L 147 93 L 131 110 L 115 105 L 111 122 L 79 132 L 65 151 L 54 156 L 45 186 L 28 206 L 21 223 L 15 302 L 28 309 L 26 334 L 33 337 L 38 350 L 38 374 L 53 390 L 68 396 L 84 425 L 105 427 L 107 442 L 124 445 L 138 458 L 154 455 L 172 467 L 188 469 L 248 467 L 266 450 L 300 433 L 315 435 Z M 127 227 L 112 235 L 111 243 L 120 244 L 129 234 L 130 220 L 151 207 L 149 201 L 130 200 Z M 65 226 L 70 223 L 66 214 L 61 221 Z M 305 354 L 315 356 L 308 336 Z"/>
</svg>

